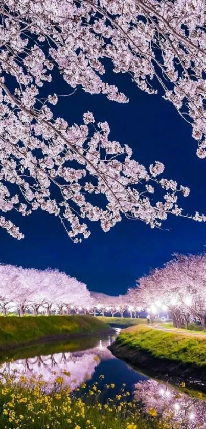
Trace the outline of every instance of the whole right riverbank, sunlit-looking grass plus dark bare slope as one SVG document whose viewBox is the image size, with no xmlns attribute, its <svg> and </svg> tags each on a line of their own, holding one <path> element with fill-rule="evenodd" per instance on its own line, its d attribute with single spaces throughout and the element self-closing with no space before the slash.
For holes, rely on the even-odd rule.
<svg viewBox="0 0 206 429">
<path fill-rule="evenodd" d="M 151 377 L 206 383 L 206 337 L 139 325 L 121 331 L 109 350 Z"/>
</svg>

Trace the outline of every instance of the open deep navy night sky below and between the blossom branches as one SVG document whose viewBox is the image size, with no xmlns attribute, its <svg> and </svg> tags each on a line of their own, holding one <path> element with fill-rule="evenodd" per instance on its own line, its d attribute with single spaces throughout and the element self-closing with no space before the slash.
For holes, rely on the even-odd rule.
<svg viewBox="0 0 206 429">
<path fill-rule="evenodd" d="M 98 121 L 107 120 L 110 138 L 131 146 L 135 159 L 146 167 L 155 160 L 163 162 L 163 177 L 190 187 L 190 196 L 181 204 L 185 213 L 206 213 L 206 160 L 196 156 L 190 125 L 161 95 L 138 90 L 129 76 L 109 78 L 130 98 L 128 104 L 78 89 L 73 96 L 60 99 L 58 116 L 65 115 L 70 124 L 81 123 L 82 114 L 90 110 Z M 58 78 L 55 83 L 55 92 L 65 92 Z M 47 213 L 38 211 L 26 218 L 17 213 L 12 220 L 25 239 L 17 241 L 0 230 L 2 263 L 58 268 L 85 282 L 90 290 L 113 295 L 126 292 L 138 277 L 164 264 L 172 253 L 201 252 L 206 245 L 206 223 L 172 216 L 163 223 L 163 230 L 123 219 L 104 233 L 98 223 L 92 223 L 90 238 L 81 244 L 74 244 L 58 219 Z"/>
</svg>

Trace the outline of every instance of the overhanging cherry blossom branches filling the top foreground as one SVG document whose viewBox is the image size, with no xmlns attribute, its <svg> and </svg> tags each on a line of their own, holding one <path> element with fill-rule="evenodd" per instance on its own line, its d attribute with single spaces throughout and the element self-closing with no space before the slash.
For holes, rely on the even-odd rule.
<svg viewBox="0 0 206 429">
<path fill-rule="evenodd" d="M 110 61 L 114 73 L 127 73 L 143 91 L 159 90 L 174 104 L 205 157 L 205 8 L 203 0 L 1 0 L 3 213 L 27 216 L 40 208 L 57 216 L 75 242 L 90 234 L 85 219 L 100 221 L 107 232 L 123 216 L 153 228 L 168 213 L 182 213 L 177 197 L 189 189 L 159 178 L 161 162 L 147 170 L 132 159 L 127 142 L 109 140 L 107 122 L 85 112 L 82 124 L 70 125 L 55 105 L 79 86 L 128 102 L 102 77 Z M 64 79 L 67 93 L 54 92 L 57 79 Z M 198 212 L 191 218 L 206 220 Z M 0 226 L 23 237 L 5 216 Z"/>
</svg>

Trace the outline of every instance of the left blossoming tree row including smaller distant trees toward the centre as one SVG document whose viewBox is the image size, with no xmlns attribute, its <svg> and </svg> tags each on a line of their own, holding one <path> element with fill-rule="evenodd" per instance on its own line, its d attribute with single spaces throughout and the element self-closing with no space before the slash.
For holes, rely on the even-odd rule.
<svg viewBox="0 0 206 429">
<path fill-rule="evenodd" d="M 13 265 L 0 265 L 0 306 L 2 313 L 18 311 L 20 316 L 32 311 L 52 313 L 112 315 L 134 309 L 126 295 L 109 296 L 89 292 L 86 285 L 58 270 L 36 270 Z"/>
</svg>

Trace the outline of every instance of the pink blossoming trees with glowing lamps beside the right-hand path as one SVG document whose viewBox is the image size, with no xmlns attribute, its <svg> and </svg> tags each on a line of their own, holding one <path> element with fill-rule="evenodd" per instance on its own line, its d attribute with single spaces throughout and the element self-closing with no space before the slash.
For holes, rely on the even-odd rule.
<svg viewBox="0 0 206 429">
<path fill-rule="evenodd" d="M 175 327 L 188 328 L 196 319 L 206 331 L 206 254 L 176 254 L 163 268 L 140 278 L 128 295 L 153 316 L 169 312 Z"/>
</svg>

